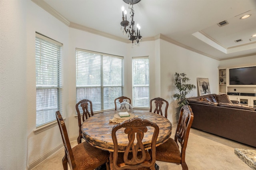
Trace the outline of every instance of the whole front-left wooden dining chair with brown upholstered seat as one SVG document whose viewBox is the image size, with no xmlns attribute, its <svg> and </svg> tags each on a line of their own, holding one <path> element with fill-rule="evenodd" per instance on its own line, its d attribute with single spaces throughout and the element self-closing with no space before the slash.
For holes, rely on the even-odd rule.
<svg viewBox="0 0 256 170">
<path fill-rule="evenodd" d="M 109 152 L 95 148 L 88 142 L 82 142 L 71 148 L 66 125 L 60 111 L 56 111 L 56 119 L 65 148 L 65 155 L 62 158 L 64 170 L 68 170 L 68 164 L 71 170 L 94 170 L 103 164 L 108 164 Z"/>
</svg>

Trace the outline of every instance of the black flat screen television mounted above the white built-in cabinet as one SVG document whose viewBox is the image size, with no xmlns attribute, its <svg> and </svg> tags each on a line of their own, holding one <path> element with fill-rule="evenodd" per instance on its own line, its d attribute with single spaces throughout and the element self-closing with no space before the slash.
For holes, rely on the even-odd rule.
<svg viewBox="0 0 256 170">
<path fill-rule="evenodd" d="M 229 85 L 256 85 L 256 67 L 229 69 Z"/>
</svg>

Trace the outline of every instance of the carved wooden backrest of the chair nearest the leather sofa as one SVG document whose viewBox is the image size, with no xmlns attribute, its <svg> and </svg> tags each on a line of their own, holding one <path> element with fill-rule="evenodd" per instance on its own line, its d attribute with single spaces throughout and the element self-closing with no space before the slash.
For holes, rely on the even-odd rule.
<svg viewBox="0 0 256 170">
<path fill-rule="evenodd" d="M 181 146 L 181 157 L 185 160 L 185 152 L 188 144 L 188 135 L 193 123 L 194 114 L 189 105 L 185 105 L 180 109 L 180 119 L 177 125 L 174 140 L 179 142 Z"/>
</svg>

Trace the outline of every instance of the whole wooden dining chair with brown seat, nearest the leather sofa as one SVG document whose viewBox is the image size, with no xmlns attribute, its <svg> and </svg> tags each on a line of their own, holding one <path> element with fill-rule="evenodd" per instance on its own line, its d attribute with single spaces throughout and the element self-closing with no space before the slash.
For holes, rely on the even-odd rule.
<svg viewBox="0 0 256 170">
<path fill-rule="evenodd" d="M 174 139 L 169 138 L 164 144 L 156 147 L 157 161 L 181 164 L 182 170 L 188 170 L 188 166 L 185 162 L 185 152 L 193 119 L 194 114 L 190 106 L 183 106 L 180 110 L 180 119 Z M 181 148 L 179 148 L 178 142 Z"/>
</svg>

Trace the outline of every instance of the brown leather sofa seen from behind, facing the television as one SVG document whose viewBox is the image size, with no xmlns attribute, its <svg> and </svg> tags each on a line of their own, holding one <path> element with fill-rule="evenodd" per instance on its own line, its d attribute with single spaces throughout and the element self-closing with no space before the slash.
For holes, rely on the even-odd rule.
<svg viewBox="0 0 256 170">
<path fill-rule="evenodd" d="M 256 108 L 226 97 L 210 94 L 188 98 L 194 113 L 192 128 L 256 147 Z"/>
</svg>

